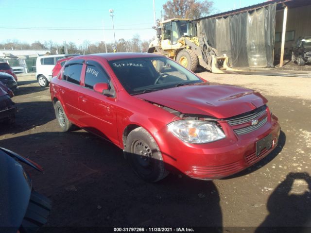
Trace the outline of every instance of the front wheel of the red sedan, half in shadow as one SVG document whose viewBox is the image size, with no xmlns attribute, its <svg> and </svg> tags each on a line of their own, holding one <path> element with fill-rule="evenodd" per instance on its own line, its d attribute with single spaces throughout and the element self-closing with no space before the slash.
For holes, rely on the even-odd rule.
<svg viewBox="0 0 311 233">
<path fill-rule="evenodd" d="M 143 128 L 131 131 L 126 138 L 125 153 L 134 172 L 147 182 L 157 182 L 169 172 L 155 139 Z"/>
</svg>

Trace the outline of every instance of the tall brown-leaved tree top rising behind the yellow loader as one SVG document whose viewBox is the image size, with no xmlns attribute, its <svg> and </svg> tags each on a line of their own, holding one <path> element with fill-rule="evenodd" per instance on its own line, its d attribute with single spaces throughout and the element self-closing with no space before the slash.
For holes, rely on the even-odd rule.
<svg viewBox="0 0 311 233">
<path fill-rule="evenodd" d="M 205 17 L 211 14 L 212 7 L 210 0 L 168 0 L 163 5 L 164 19 Z"/>
</svg>

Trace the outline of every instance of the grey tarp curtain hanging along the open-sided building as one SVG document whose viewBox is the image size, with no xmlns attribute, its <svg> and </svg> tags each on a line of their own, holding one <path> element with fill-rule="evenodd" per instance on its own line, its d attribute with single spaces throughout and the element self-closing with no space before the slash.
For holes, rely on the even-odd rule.
<svg viewBox="0 0 311 233">
<path fill-rule="evenodd" d="M 226 54 L 232 67 L 273 67 L 276 3 L 249 12 L 198 20 L 218 55 Z"/>
</svg>

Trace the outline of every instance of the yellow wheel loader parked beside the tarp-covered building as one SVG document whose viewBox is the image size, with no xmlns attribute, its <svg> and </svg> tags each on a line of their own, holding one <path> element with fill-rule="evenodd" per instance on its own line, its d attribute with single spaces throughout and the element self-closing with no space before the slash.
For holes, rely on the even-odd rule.
<svg viewBox="0 0 311 233">
<path fill-rule="evenodd" d="M 172 58 L 182 66 L 195 71 L 198 66 L 213 73 L 224 73 L 228 67 L 227 56 L 217 56 L 217 50 L 210 47 L 204 36 L 196 35 L 196 22 L 191 19 L 168 19 L 161 22 L 157 38 L 148 48 L 149 53 L 157 53 Z"/>
</svg>

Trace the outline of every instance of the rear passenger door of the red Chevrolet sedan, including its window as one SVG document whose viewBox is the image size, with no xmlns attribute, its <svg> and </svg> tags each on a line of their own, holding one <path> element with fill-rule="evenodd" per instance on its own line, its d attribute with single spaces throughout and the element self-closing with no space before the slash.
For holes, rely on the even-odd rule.
<svg viewBox="0 0 311 233">
<path fill-rule="evenodd" d="M 66 64 L 61 77 L 63 82 L 61 82 L 62 84 L 59 86 L 59 93 L 66 115 L 73 122 L 79 122 L 81 116 L 78 92 L 82 88 L 80 85 L 80 79 L 83 63 L 83 60 L 74 60 Z"/>
</svg>

